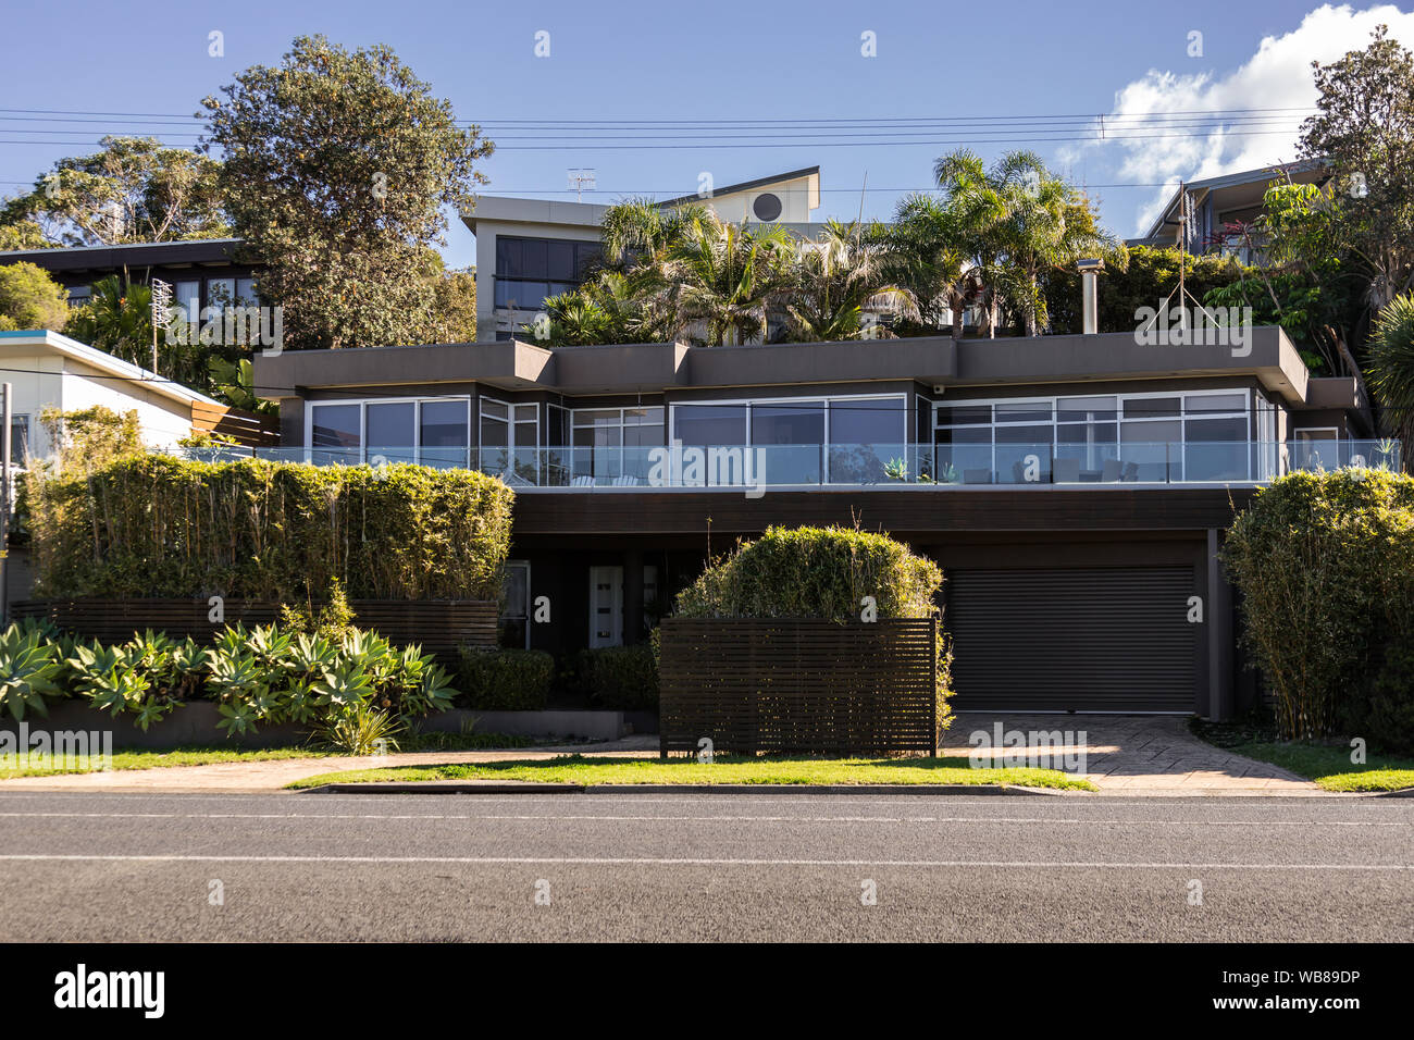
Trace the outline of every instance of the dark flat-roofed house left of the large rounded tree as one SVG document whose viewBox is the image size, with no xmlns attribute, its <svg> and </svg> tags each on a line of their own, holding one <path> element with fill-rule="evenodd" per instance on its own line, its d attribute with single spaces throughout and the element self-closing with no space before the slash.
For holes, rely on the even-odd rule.
<svg viewBox="0 0 1414 1040">
<path fill-rule="evenodd" d="M 173 301 L 185 307 L 191 321 L 206 307 L 225 304 L 255 307 L 260 299 L 255 280 L 263 265 L 238 262 L 240 239 L 197 239 L 191 242 L 140 242 L 117 246 L 72 246 L 65 249 L 17 249 L 0 252 L 0 265 L 34 263 L 69 290 L 69 304 L 88 303 L 95 282 L 116 275 L 120 280 L 151 284 L 161 279 L 173 286 Z"/>
</svg>

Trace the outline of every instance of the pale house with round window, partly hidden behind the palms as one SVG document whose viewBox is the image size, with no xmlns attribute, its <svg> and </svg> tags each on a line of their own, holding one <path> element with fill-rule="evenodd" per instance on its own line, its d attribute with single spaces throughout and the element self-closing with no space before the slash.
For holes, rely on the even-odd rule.
<svg viewBox="0 0 1414 1040">
<path fill-rule="evenodd" d="M 669 198 L 666 208 L 696 202 L 724 221 L 779 224 L 802 238 L 813 238 L 823 224 L 812 224 L 820 208 L 820 167 L 740 184 L 701 183 L 693 195 Z M 605 205 L 557 202 L 544 198 L 479 195 L 462 222 L 477 236 L 477 338 L 510 340 L 534 321 L 547 296 L 566 293 L 584 280 L 600 256 Z"/>
</svg>

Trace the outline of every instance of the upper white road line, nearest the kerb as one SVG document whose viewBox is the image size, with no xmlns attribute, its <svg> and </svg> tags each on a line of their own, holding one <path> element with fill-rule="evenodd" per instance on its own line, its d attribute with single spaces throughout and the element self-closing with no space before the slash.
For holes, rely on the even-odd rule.
<svg viewBox="0 0 1414 1040">
<path fill-rule="evenodd" d="M 0 819 L 501 819 L 643 824 L 1027 824 L 1103 826 L 1414 826 L 1414 819 L 1094 819 L 1080 816 L 611 816 L 604 814 L 378 814 L 378 812 L 0 812 Z"/>
</svg>

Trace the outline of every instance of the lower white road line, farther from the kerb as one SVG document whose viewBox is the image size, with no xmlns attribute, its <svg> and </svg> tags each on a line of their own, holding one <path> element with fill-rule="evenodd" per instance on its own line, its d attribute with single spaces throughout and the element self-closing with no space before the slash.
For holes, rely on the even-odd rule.
<svg viewBox="0 0 1414 1040">
<path fill-rule="evenodd" d="M 1333 870 L 1403 872 L 1408 863 L 1114 863 L 1070 860 L 964 859 L 704 859 L 667 856 L 188 856 L 188 855 L 0 855 L 0 862 L 83 863 L 461 863 L 467 866 L 819 866 L 819 867 L 978 867 L 1082 870 Z"/>
</svg>

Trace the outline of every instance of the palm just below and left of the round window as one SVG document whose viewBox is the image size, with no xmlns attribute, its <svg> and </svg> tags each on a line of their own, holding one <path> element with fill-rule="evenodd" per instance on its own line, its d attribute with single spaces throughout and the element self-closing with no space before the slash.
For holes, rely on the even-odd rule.
<svg viewBox="0 0 1414 1040">
<path fill-rule="evenodd" d="M 683 239 L 663 253 L 662 301 L 707 345 L 768 338 L 768 313 L 790 289 L 795 243 L 778 225 L 730 224 L 711 209 L 687 216 Z M 694 327 L 703 335 L 694 334 Z"/>
</svg>

